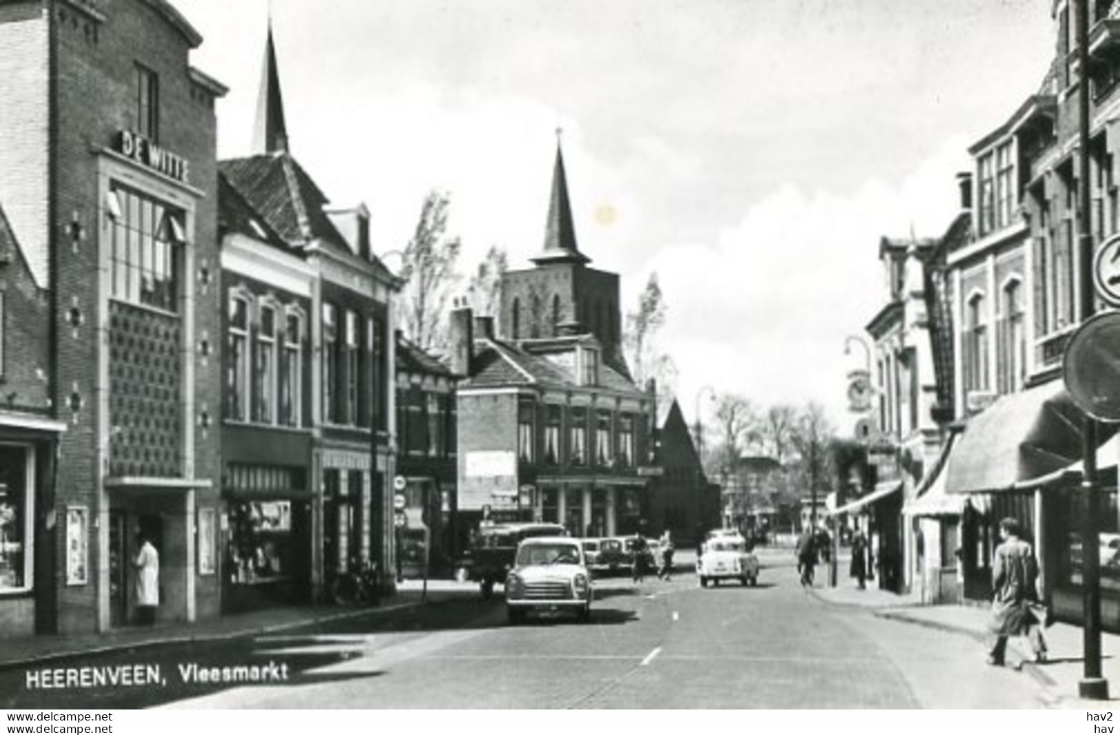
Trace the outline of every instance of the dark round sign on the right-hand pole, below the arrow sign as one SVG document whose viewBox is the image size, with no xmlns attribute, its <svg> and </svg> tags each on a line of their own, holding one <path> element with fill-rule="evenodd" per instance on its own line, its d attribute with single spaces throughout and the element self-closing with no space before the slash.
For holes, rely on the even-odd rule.
<svg viewBox="0 0 1120 735">
<path fill-rule="evenodd" d="M 1065 388 L 1082 411 L 1100 421 L 1120 421 L 1120 313 L 1092 317 L 1065 346 Z"/>
</svg>

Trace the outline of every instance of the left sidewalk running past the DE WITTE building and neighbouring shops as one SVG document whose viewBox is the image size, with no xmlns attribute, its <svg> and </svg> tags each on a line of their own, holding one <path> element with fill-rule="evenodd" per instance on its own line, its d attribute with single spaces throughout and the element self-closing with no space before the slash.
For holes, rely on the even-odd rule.
<svg viewBox="0 0 1120 735">
<path fill-rule="evenodd" d="M 381 605 L 375 607 L 338 607 L 336 605 L 273 607 L 223 615 L 196 623 L 164 623 L 151 627 L 122 627 L 105 633 L 0 639 L 0 670 L 41 666 L 77 655 L 121 649 L 233 640 L 267 635 L 349 617 L 380 616 L 421 605 L 421 588 L 422 584 L 419 580 L 405 580 L 398 585 L 398 592 L 394 596 L 383 598 Z M 427 602 L 446 602 L 455 596 L 477 593 L 477 585 L 465 586 L 452 582 L 431 580 L 428 584 Z"/>
</svg>

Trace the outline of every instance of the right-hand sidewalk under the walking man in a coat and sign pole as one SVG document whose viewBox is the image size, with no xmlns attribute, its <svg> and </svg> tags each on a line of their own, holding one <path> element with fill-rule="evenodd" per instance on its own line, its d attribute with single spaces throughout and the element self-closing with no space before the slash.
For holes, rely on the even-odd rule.
<svg viewBox="0 0 1120 735">
<path fill-rule="evenodd" d="M 983 666 L 989 641 L 987 607 L 970 605 L 921 605 L 916 597 L 896 595 L 881 589 L 857 589 L 847 584 L 830 589 L 816 587 L 813 595 L 829 605 L 862 607 L 877 617 L 923 625 L 934 630 L 968 635 L 977 641 L 977 664 Z M 1033 662 L 1030 646 L 1023 636 L 1008 642 L 1007 666 L 1020 667 L 1042 689 L 1046 701 L 1055 707 L 1085 708 L 1098 704 L 1077 696 L 1077 683 L 1084 674 L 1082 649 L 1083 631 L 1080 626 L 1055 623 L 1045 630 L 1048 661 Z M 1102 676 L 1109 681 L 1110 703 L 1120 701 L 1120 635 L 1101 634 Z"/>
</svg>

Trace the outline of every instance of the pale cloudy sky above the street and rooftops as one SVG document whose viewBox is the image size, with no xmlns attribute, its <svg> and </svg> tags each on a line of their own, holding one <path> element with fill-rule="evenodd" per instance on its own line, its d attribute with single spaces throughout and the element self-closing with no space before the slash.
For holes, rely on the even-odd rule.
<svg viewBox="0 0 1120 735">
<path fill-rule="evenodd" d="M 194 64 L 232 87 L 218 153 L 249 152 L 265 0 L 176 0 Z M 293 155 L 336 205 L 402 248 L 432 188 L 463 270 L 542 244 L 556 129 L 577 236 L 651 271 L 662 346 L 698 390 L 824 403 L 843 341 L 886 298 L 880 235 L 936 236 L 965 148 L 1036 91 L 1051 0 L 273 0 Z M 390 260 L 392 266 L 392 260 Z"/>
</svg>

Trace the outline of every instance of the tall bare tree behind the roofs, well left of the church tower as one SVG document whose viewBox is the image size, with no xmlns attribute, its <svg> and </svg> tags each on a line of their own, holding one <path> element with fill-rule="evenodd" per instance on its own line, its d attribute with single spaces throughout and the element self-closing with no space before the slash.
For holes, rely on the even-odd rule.
<svg viewBox="0 0 1120 735">
<path fill-rule="evenodd" d="M 440 192 L 424 197 L 401 267 L 401 328 L 421 348 L 433 352 L 446 351 L 447 305 L 459 279 L 455 267 L 461 244 L 458 238 L 445 236 L 448 204 L 448 196 Z"/>
</svg>

